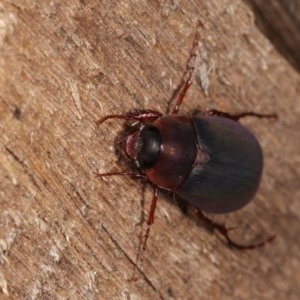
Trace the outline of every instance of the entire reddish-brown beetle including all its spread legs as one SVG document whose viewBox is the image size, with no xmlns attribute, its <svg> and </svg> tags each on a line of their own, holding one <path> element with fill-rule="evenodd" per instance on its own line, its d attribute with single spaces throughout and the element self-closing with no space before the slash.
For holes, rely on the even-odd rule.
<svg viewBox="0 0 300 300">
<path fill-rule="evenodd" d="M 108 115 L 96 122 L 97 125 L 109 119 L 131 122 L 133 132 L 126 137 L 123 150 L 135 164 L 133 171 L 96 173 L 96 177 L 127 175 L 143 179 L 153 187 L 147 229 L 141 241 L 133 279 L 136 279 L 136 271 L 142 264 L 159 189 L 171 191 L 183 199 L 200 219 L 222 234 L 230 246 L 254 249 L 275 238 L 273 235 L 256 244 L 239 244 L 229 237 L 228 233 L 233 228 L 226 228 L 202 213 L 230 213 L 253 199 L 261 180 L 263 155 L 256 137 L 238 121 L 246 116 L 276 119 L 277 115 L 255 112 L 229 114 L 218 110 L 209 110 L 200 116 L 178 115 L 192 83 L 200 26 L 199 22 L 188 68 L 171 114 L 137 110 Z"/>
</svg>

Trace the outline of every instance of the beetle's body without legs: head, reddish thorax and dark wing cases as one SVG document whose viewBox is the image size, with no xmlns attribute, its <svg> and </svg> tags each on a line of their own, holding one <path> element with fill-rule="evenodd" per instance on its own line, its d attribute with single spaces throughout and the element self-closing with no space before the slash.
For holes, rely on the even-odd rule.
<svg viewBox="0 0 300 300">
<path fill-rule="evenodd" d="M 257 139 L 236 121 L 219 116 L 161 116 L 142 123 L 126 153 L 154 185 L 173 191 L 209 213 L 242 208 L 262 174 Z"/>
</svg>

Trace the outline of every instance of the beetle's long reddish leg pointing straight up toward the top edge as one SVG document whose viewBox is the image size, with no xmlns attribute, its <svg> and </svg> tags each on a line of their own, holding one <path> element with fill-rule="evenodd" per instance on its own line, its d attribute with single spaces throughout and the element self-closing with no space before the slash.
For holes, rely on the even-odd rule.
<svg viewBox="0 0 300 300">
<path fill-rule="evenodd" d="M 185 71 L 183 75 L 183 83 L 180 88 L 179 95 L 176 100 L 175 107 L 172 110 L 172 115 L 176 115 L 180 109 L 180 106 L 183 102 L 183 99 L 186 95 L 187 90 L 192 84 L 192 75 L 195 69 L 195 61 L 197 57 L 197 48 L 199 46 L 199 40 L 200 40 L 200 27 L 203 28 L 203 23 L 199 20 L 198 21 L 198 26 L 197 26 L 197 32 L 195 34 L 192 50 L 190 57 L 187 62 L 187 70 Z"/>
</svg>

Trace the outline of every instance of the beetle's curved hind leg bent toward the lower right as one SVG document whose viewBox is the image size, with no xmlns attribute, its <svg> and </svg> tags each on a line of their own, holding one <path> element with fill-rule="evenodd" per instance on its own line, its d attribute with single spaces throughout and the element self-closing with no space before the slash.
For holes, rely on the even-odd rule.
<svg viewBox="0 0 300 300">
<path fill-rule="evenodd" d="M 255 248 L 263 247 L 265 244 L 272 242 L 276 237 L 276 235 L 272 235 L 269 238 L 267 238 L 261 242 L 258 242 L 256 244 L 250 244 L 250 245 L 239 244 L 239 243 L 233 241 L 229 236 L 229 231 L 235 229 L 235 227 L 226 228 L 223 224 L 217 223 L 214 220 L 206 217 L 202 213 L 202 211 L 199 209 L 194 209 L 194 212 L 198 218 L 203 220 L 205 223 L 207 223 L 209 226 L 213 227 L 221 235 L 223 235 L 229 246 L 232 246 L 233 248 L 236 248 L 239 250 L 247 250 L 247 249 L 255 249 Z"/>
</svg>

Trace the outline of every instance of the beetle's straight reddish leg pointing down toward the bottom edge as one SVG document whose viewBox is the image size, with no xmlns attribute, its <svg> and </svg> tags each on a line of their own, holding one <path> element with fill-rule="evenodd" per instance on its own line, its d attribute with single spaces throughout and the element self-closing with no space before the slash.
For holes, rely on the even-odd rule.
<svg viewBox="0 0 300 300">
<path fill-rule="evenodd" d="M 149 216 L 147 219 L 147 228 L 146 228 L 146 232 L 145 232 L 143 238 L 140 240 L 139 252 L 138 252 L 138 255 L 136 258 L 136 265 L 134 268 L 132 281 L 136 281 L 138 279 L 136 273 L 137 273 L 137 270 L 141 269 L 141 266 L 142 266 L 144 254 L 145 254 L 146 247 L 147 247 L 147 241 L 148 241 L 149 234 L 150 234 L 150 228 L 154 222 L 154 213 L 155 213 L 155 208 L 156 208 L 156 203 L 157 203 L 157 194 L 158 194 L 158 187 L 153 186 L 153 197 L 152 197 L 152 201 L 151 201 Z"/>
</svg>

